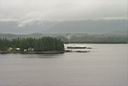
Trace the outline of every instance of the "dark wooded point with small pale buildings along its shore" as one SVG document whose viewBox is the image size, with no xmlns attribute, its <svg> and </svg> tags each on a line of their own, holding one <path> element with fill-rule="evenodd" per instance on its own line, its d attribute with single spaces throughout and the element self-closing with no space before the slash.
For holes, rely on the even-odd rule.
<svg viewBox="0 0 128 86">
<path fill-rule="evenodd" d="M 64 43 L 52 37 L 0 39 L 0 54 L 60 54 L 64 53 Z"/>
</svg>

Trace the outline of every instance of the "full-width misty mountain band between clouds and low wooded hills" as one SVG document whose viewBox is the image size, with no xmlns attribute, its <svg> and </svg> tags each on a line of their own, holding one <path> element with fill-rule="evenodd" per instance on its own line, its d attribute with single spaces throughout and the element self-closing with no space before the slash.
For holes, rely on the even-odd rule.
<svg viewBox="0 0 128 86">
<path fill-rule="evenodd" d="M 128 20 L 0 21 L 0 33 L 127 33 Z"/>
</svg>

